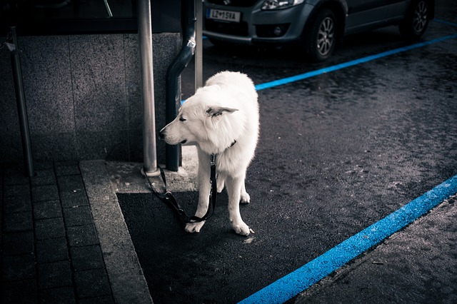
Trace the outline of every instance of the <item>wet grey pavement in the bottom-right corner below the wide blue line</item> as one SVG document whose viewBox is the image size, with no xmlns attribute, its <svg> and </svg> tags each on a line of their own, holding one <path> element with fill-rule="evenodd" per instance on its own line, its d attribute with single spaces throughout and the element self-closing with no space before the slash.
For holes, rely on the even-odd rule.
<svg viewBox="0 0 457 304">
<path fill-rule="evenodd" d="M 297 303 L 456 303 L 454 196 L 299 295 Z"/>
</svg>

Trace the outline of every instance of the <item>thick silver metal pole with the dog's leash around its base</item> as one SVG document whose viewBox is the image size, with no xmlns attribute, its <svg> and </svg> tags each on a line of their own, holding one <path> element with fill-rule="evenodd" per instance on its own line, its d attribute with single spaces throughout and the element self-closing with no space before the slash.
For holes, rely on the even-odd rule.
<svg viewBox="0 0 457 304">
<path fill-rule="evenodd" d="M 138 37 L 143 101 L 143 169 L 146 176 L 159 176 L 156 155 L 156 119 L 154 113 L 154 67 L 152 59 L 151 3 L 138 1 Z"/>
</svg>

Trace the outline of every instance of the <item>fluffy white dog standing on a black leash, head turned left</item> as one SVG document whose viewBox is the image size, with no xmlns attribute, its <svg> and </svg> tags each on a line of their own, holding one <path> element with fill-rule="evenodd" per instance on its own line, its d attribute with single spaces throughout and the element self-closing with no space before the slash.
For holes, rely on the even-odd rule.
<svg viewBox="0 0 457 304">
<path fill-rule="evenodd" d="M 251 78 L 231 71 L 206 81 L 179 109 L 178 116 L 160 131 L 166 143 L 196 145 L 199 154 L 199 206 L 201 218 L 209 208 L 210 159 L 216 155 L 217 190 L 229 193 L 229 216 L 236 233 L 253 232 L 240 215 L 239 203 L 249 203 L 244 180 L 258 141 L 257 93 Z M 187 223 L 186 231 L 200 232 L 204 221 Z"/>
</svg>

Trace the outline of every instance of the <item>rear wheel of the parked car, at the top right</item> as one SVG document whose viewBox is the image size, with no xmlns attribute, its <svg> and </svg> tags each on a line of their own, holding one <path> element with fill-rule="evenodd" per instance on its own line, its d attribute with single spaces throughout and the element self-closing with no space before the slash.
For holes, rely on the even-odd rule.
<svg viewBox="0 0 457 304">
<path fill-rule="evenodd" d="M 399 24 L 400 34 L 407 40 L 418 40 L 426 32 L 430 8 L 428 1 L 416 0 L 411 4 L 406 18 Z"/>
</svg>

